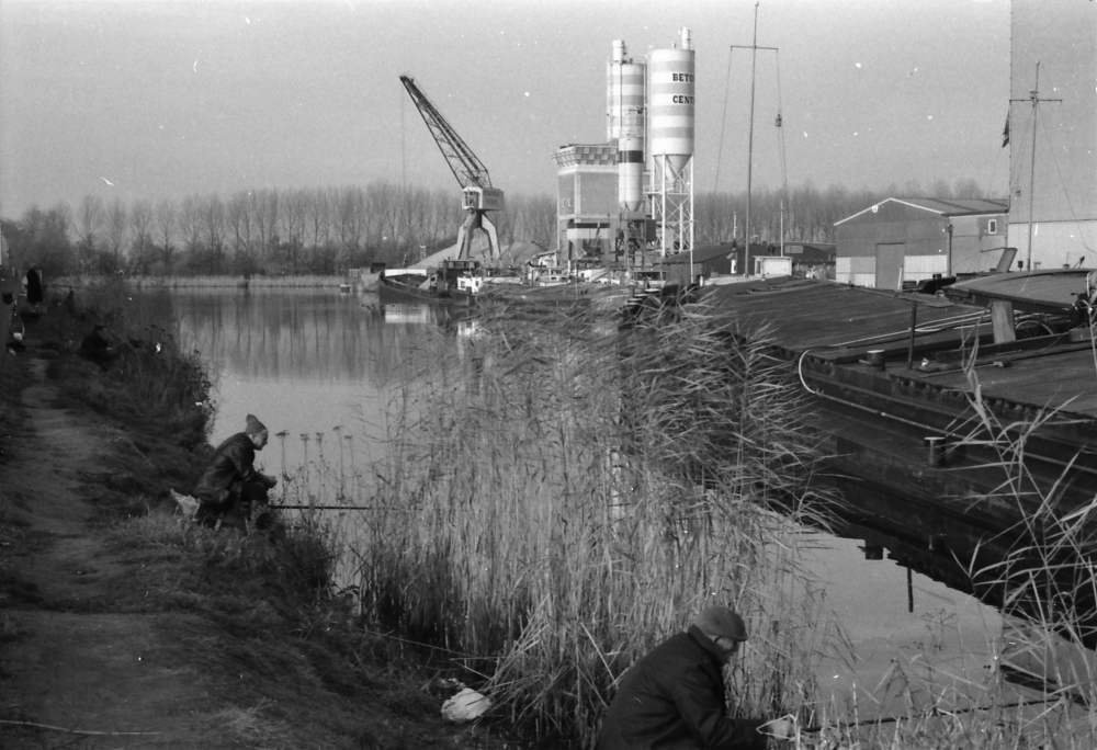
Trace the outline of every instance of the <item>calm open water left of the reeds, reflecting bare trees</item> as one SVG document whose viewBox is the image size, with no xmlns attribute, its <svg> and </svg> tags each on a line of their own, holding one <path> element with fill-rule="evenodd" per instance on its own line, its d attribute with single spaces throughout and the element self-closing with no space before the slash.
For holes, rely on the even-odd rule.
<svg viewBox="0 0 1097 750">
<path fill-rule="evenodd" d="M 328 446 L 349 439 L 355 466 L 383 455 L 404 353 L 438 345 L 427 327 L 454 323 L 442 307 L 381 305 L 371 293 L 214 288 L 172 296 L 183 336 L 215 376 L 211 441 L 238 432 L 255 413 L 272 435 L 287 433 L 272 436 L 259 457 L 280 474 L 315 464 L 318 435 L 329 435 Z"/>
</svg>

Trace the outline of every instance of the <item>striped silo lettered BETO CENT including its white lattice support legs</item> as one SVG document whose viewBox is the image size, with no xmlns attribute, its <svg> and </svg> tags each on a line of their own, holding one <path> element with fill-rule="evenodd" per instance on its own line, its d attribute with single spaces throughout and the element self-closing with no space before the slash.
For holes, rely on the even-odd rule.
<svg viewBox="0 0 1097 750">
<path fill-rule="evenodd" d="M 689 29 L 680 46 L 648 56 L 652 216 L 663 254 L 693 249 L 695 69 Z"/>
</svg>

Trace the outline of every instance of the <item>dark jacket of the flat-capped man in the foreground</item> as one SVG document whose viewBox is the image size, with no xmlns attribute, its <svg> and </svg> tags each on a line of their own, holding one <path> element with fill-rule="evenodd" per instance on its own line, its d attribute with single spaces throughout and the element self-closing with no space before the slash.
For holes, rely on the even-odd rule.
<svg viewBox="0 0 1097 750">
<path fill-rule="evenodd" d="M 764 721 L 730 719 L 726 705 L 717 651 L 691 626 L 625 673 L 597 750 L 764 750 Z"/>
</svg>

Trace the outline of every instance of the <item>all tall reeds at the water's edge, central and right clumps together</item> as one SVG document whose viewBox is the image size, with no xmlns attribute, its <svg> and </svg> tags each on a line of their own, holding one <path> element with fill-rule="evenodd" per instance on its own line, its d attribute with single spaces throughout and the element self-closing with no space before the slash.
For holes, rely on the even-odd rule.
<svg viewBox="0 0 1097 750">
<path fill-rule="evenodd" d="M 283 502 L 348 507 L 320 530 L 346 550 L 340 586 L 367 622 L 489 695 L 489 717 L 591 747 L 629 666 L 721 602 L 751 633 L 732 704 L 795 714 L 790 748 L 1097 747 L 1094 503 L 1064 510 L 1055 487 L 1033 502 L 1045 485 L 1022 459 L 1050 414 L 1003 424 L 971 388 L 968 442 L 999 452 L 995 495 L 1024 509 L 1029 539 L 969 571 L 999 592 L 1007 627 L 973 645 L 996 667 L 942 663 L 946 617 L 880 684 L 822 702 L 818 666 L 849 651 L 799 553 L 801 523 L 825 527 L 836 499 L 811 489 L 804 405 L 766 331 L 717 326 L 704 306 L 623 330 L 590 308 L 493 306 L 468 330 L 387 363 L 382 461 L 338 430 L 282 435 L 309 456 L 283 467 Z"/>
</svg>

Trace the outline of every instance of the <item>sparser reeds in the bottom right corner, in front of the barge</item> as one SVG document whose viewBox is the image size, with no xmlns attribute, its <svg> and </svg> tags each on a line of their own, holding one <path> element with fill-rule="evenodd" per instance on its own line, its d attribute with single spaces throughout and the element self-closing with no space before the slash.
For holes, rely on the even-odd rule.
<svg viewBox="0 0 1097 750">
<path fill-rule="evenodd" d="M 958 560 L 972 590 L 1000 610 L 1003 624 L 988 628 L 985 644 L 995 668 L 983 674 L 940 669 L 930 652 L 909 664 L 896 661 L 875 692 L 902 695 L 905 714 L 862 721 L 838 712 L 827 732 L 835 742 L 863 748 L 1092 750 L 1097 747 L 1097 498 L 1068 491 L 1071 456 L 1053 456 L 1066 463 L 1058 479 L 1033 470 L 1029 445 L 1070 416 L 1044 409 L 1034 417 L 999 418 L 1003 412 L 983 396 L 974 356 L 965 366 L 966 436 L 952 450 L 988 456 L 979 461 L 981 471 L 1000 470 L 996 487 L 969 498 L 973 508 L 1008 507 L 1018 519 Z"/>
</svg>

